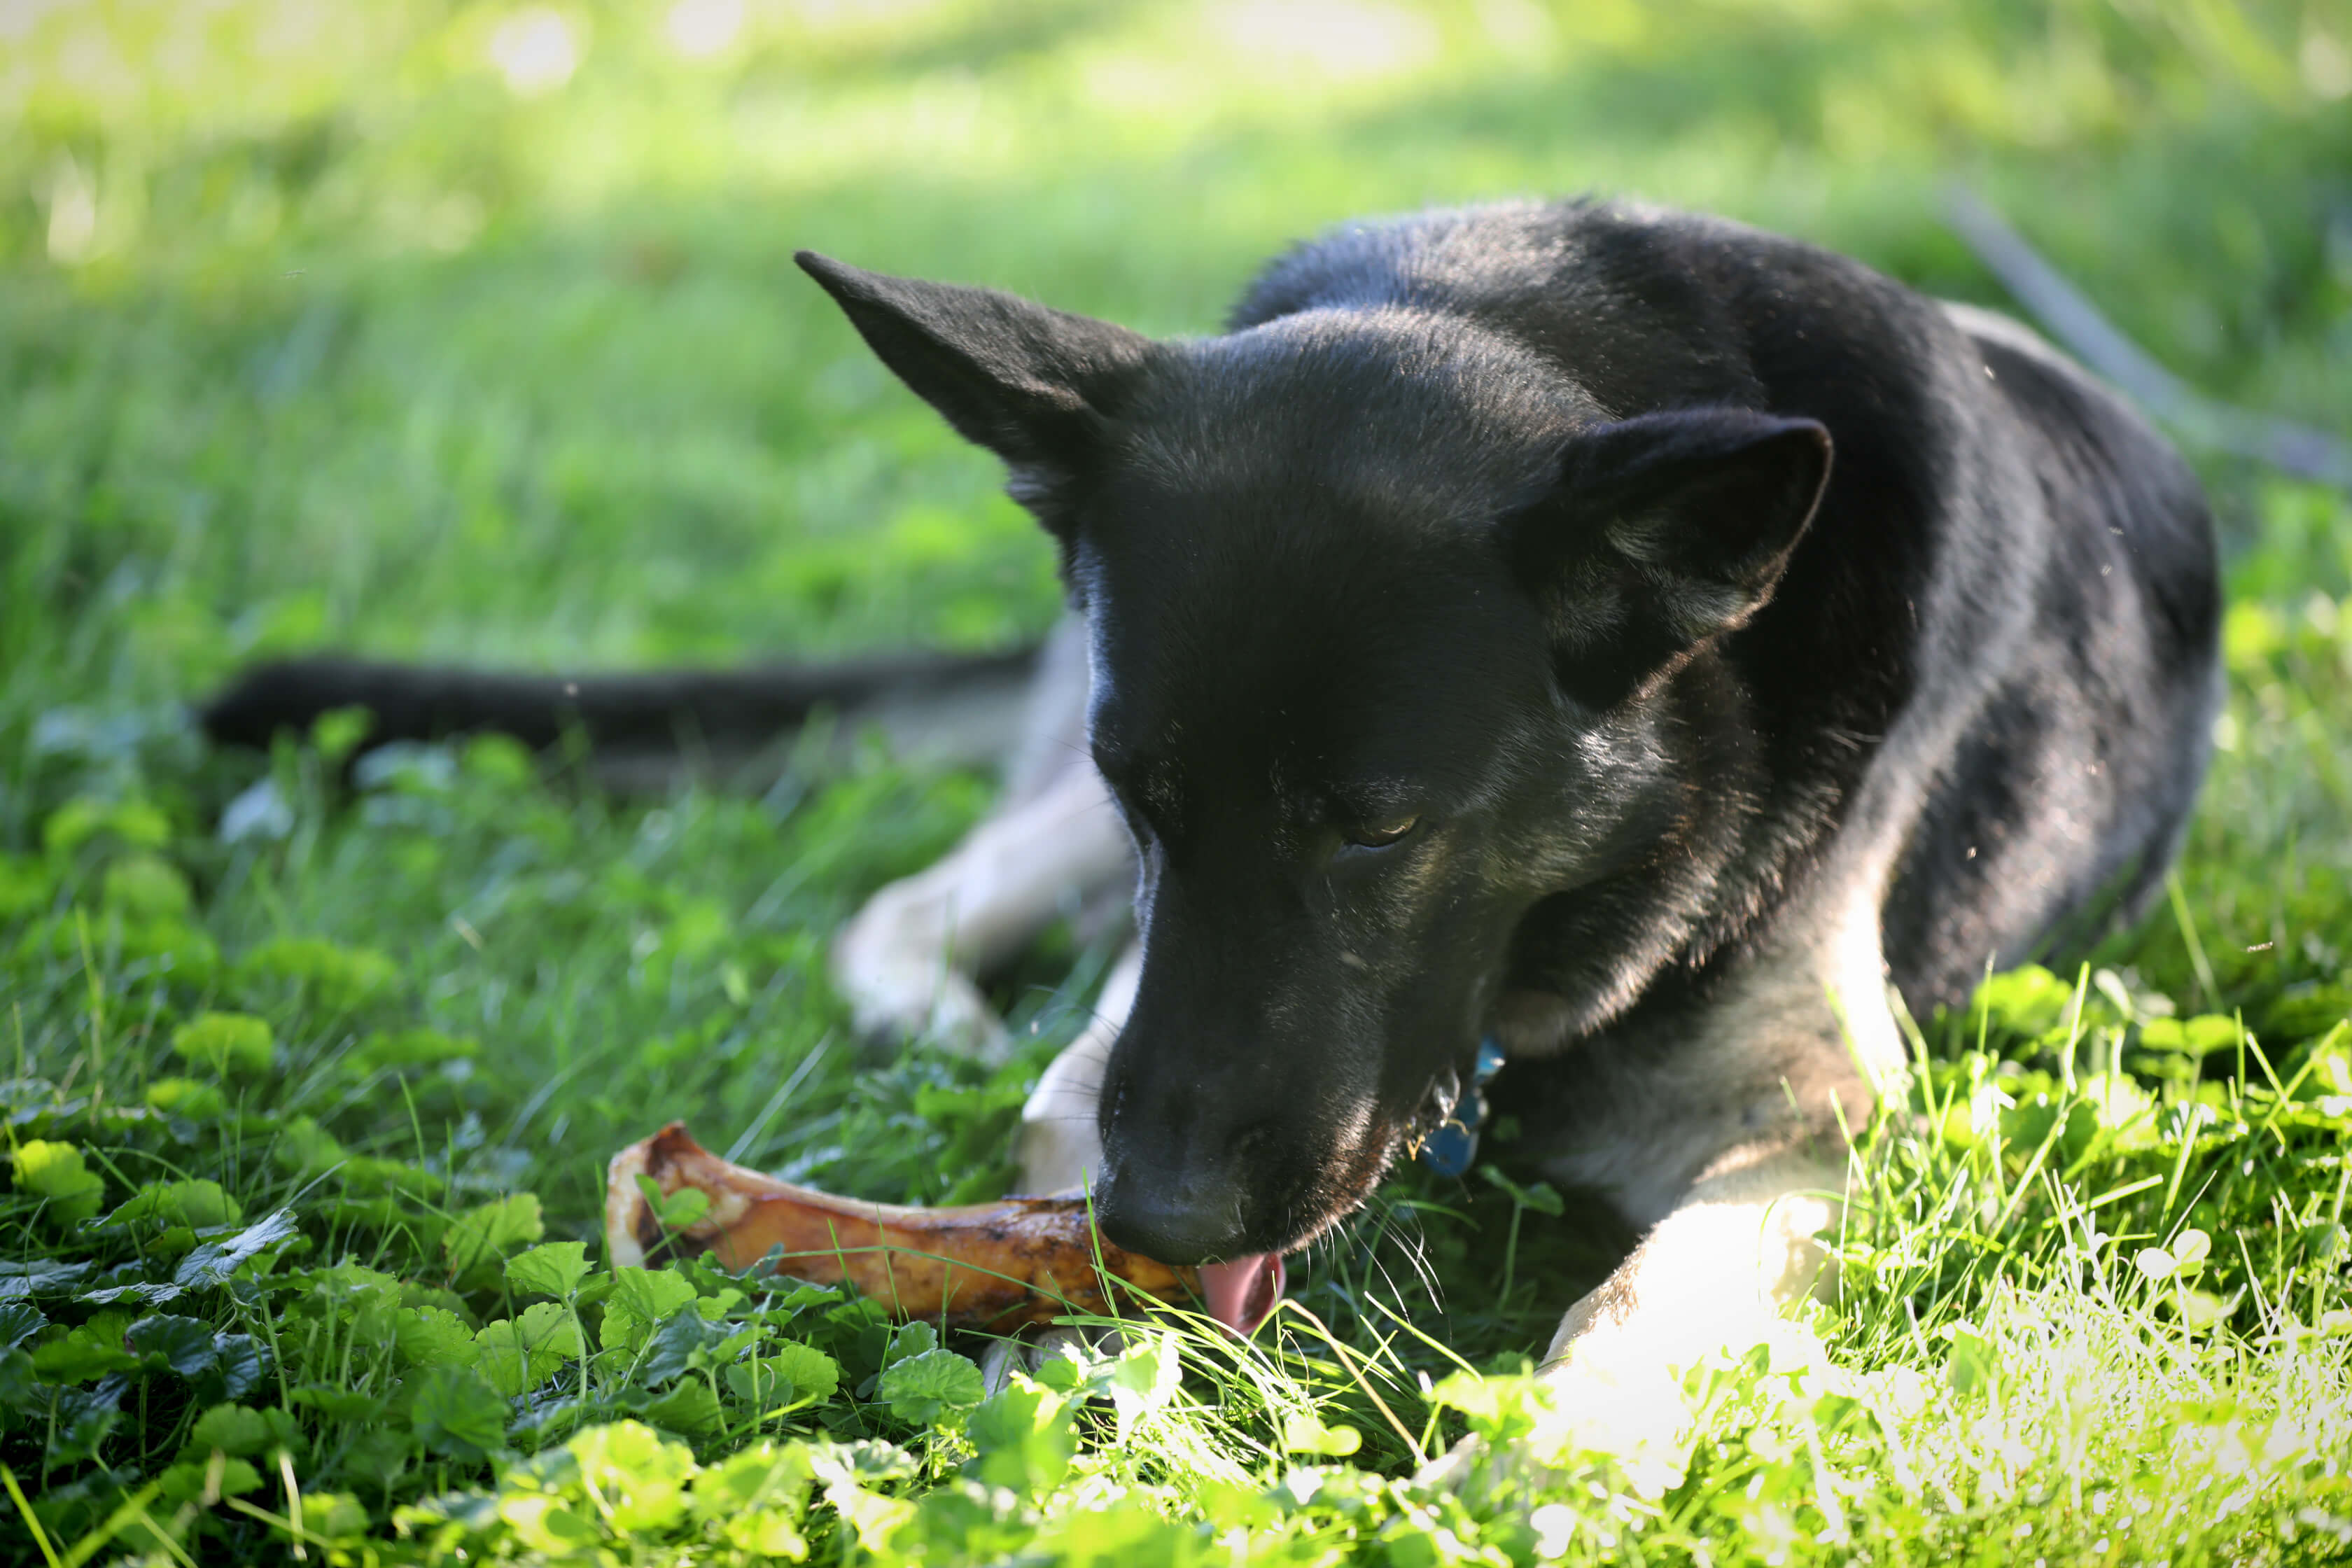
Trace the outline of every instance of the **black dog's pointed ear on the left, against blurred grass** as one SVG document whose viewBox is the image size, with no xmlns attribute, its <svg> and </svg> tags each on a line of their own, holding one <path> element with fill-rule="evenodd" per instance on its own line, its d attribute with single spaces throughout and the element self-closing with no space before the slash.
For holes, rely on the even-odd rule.
<svg viewBox="0 0 2352 1568">
<path fill-rule="evenodd" d="M 1152 341 L 995 289 L 889 277 L 816 252 L 795 256 L 866 346 L 964 440 L 1011 470 L 1011 494 L 1054 534 L 1152 355 Z"/>
</svg>

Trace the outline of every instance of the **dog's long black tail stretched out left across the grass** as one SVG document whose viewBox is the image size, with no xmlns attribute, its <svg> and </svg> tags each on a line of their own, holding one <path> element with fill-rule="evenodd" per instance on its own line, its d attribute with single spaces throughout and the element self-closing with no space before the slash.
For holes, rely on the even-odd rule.
<svg viewBox="0 0 2352 1568">
<path fill-rule="evenodd" d="M 1025 646 L 564 677 L 308 656 L 245 670 L 195 717 L 212 741 L 249 748 L 308 733 L 339 708 L 372 715 L 360 752 L 485 731 L 550 750 L 579 736 L 607 783 L 633 788 L 630 764 L 750 762 L 821 712 L 844 733 L 880 729 L 901 755 L 1002 762 L 1021 733 L 1037 658 Z"/>
</svg>

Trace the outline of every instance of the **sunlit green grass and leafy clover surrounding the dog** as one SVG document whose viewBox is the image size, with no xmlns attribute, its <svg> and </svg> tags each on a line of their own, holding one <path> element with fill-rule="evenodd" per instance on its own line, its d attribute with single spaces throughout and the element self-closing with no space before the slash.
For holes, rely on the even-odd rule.
<svg viewBox="0 0 2352 1568">
<path fill-rule="evenodd" d="M 1390 1182 L 1254 1349 L 1174 1326 L 990 1401 L 971 1342 L 602 1267 L 602 1161 L 670 1117 L 840 1192 L 1002 1190 L 1105 954 L 1002 983 L 1037 1032 L 995 1074 L 858 1044 L 823 978 L 983 780 L 621 804 L 475 745 L 346 797 L 332 736 L 209 757 L 179 710 L 318 644 L 1042 630 L 1049 550 L 802 244 L 1204 331 L 1327 221 L 1602 188 L 2002 303 L 1936 223 L 1959 176 L 2204 390 L 2340 423 L 2340 7 L 706 0 L 743 16 L 706 59 L 666 7 L 350 12 L 0 14 L 7 1561 L 252 1561 L 296 1507 L 353 1563 L 2352 1552 L 2343 496 L 2192 454 L 2232 696 L 2176 896 L 1924 1020 L 1842 1300 L 1693 1380 L 1663 1483 L 1446 1382 L 1623 1246 L 1484 1173 Z M 574 71 L 524 94 L 534 16 Z M 285 835 L 223 844 L 263 771 Z M 1465 1429 L 1552 1467 L 1411 1488 Z"/>
</svg>

